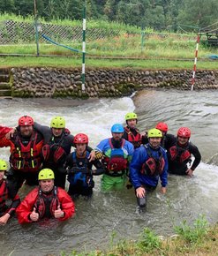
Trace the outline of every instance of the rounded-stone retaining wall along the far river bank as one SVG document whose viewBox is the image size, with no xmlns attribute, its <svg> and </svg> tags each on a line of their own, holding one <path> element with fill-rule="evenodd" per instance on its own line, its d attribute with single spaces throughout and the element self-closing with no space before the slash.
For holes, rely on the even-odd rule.
<svg viewBox="0 0 218 256">
<path fill-rule="evenodd" d="M 192 71 L 95 69 L 86 71 L 81 90 L 80 69 L 12 68 L 14 97 L 118 97 L 141 88 L 191 88 Z M 198 71 L 195 89 L 217 89 L 218 71 Z"/>
</svg>

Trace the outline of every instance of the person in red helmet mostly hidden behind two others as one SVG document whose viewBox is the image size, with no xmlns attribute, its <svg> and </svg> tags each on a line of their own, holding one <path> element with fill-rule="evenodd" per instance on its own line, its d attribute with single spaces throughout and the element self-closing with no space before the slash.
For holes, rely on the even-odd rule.
<svg viewBox="0 0 218 256">
<path fill-rule="evenodd" d="M 156 124 L 155 128 L 162 131 L 161 146 L 164 149 L 169 150 L 169 147 L 172 147 L 174 145 L 177 138 L 173 134 L 168 133 L 168 124 L 166 123 L 160 122 Z"/>
</svg>

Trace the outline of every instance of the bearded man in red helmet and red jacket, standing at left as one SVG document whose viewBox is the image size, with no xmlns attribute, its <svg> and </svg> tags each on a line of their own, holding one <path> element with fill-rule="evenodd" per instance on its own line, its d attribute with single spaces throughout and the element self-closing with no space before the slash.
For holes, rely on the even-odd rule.
<svg viewBox="0 0 218 256">
<path fill-rule="evenodd" d="M 11 147 L 11 169 L 6 176 L 14 194 L 19 191 L 25 180 L 30 185 L 38 183 L 42 145 L 43 136 L 34 130 L 34 119 L 29 116 L 19 118 L 19 126 L 10 139 L 4 137 L 0 140 L 0 147 Z"/>
</svg>

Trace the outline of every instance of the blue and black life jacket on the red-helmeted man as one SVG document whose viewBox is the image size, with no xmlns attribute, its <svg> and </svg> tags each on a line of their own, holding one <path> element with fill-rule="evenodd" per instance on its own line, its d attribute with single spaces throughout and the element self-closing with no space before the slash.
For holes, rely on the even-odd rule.
<svg viewBox="0 0 218 256">
<path fill-rule="evenodd" d="M 86 152 L 86 156 L 83 158 L 84 162 L 79 162 L 79 158 L 77 157 L 76 152 L 72 152 L 71 173 L 67 178 L 71 185 L 94 187 L 93 177 L 90 175 L 88 169 L 88 156 L 89 153 Z"/>
</svg>

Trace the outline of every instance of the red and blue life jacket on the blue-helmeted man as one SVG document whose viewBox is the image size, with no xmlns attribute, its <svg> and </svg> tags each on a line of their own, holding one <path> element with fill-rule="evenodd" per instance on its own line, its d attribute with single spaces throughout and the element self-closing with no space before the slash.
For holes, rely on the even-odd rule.
<svg viewBox="0 0 218 256">
<path fill-rule="evenodd" d="M 106 174 L 114 177 L 124 175 L 128 164 L 127 159 L 124 158 L 124 143 L 125 139 L 122 139 L 121 147 L 116 148 L 113 146 L 111 139 L 109 139 L 109 146 L 111 148 L 110 156 L 105 156 L 102 159 L 102 163 L 106 168 Z"/>
</svg>

